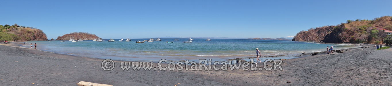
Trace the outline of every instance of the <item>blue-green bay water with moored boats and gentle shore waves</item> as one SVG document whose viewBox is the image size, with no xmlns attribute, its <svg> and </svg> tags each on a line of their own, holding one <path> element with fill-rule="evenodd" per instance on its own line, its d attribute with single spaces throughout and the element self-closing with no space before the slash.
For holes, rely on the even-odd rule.
<svg viewBox="0 0 392 86">
<path fill-rule="evenodd" d="M 351 48 L 342 44 L 321 44 L 314 42 L 278 41 L 278 40 L 251 40 L 251 39 L 194 39 L 192 43 L 183 43 L 187 39 L 180 39 L 174 43 L 166 43 L 174 39 L 162 39 L 162 41 L 135 43 L 147 39 L 132 39 L 132 41 L 102 42 L 85 40 L 71 41 L 28 41 L 37 43 L 39 50 L 58 54 L 74 56 L 95 57 L 102 59 L 116 59 L 124 61 L 159 61 L 187 60 L 187 59 L 210 59 L 214 61 L 226 61 L 236 57 L 255 57 L 256 48 L 262 55 L 300 54 L 302 52 L 325 51 L 326 47 L 334 46 L 334 49 Z M 23 42 L 22 42 L 23 43 Z M 29 44 L 22 47 L 30 48 Z M 290 59 L 290 58 L 288 58 Z"/>
</svg>

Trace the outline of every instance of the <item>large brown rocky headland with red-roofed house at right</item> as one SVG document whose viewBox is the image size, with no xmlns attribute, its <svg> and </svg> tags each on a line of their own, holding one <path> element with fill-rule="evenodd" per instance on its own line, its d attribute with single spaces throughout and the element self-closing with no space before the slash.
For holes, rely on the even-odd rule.
<svg viewBox="0 0 392 86">
<path fill-rule="evenodd" d="M 346 23 L 310 28 L 298 32 L 292 41 L 324 43 L 385 43 L 392 33 L 392 16 L 373 20 L 347 20 Z M 388 42 L 388 41 L 387 41 Z"/>
</svg>

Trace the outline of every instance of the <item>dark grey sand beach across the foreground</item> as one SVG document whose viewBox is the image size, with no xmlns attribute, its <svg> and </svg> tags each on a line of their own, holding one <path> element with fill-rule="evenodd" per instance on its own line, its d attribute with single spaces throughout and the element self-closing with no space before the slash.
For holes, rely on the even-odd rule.
<svg viewBox="0 0 392 86">
<path fill-rule="evenodd" d="M 105 71 L 101 67 L 103 59 L 2 44 L 0 85 L 77 86 L 86 81 L 114 86 L 390 86 L 391 52 L 392 48 L 355 48 L 336 55 L 288 59 L 281 65 L 283 71 L 123 71 L 119 61 L 115 63 L 117 68 Z"/>
</svg>

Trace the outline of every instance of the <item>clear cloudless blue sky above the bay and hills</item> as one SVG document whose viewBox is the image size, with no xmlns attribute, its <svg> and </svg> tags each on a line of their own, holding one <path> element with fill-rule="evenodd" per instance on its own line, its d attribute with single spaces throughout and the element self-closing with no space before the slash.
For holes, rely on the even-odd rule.
<svg viewBox="0 0 392 86">
<path fill-rule="evenodd" d="M 89 32 L 103 39 L 280 38 L 347 20 L 392 16 L 392 1 L 362 0 L 9 0 L 0 24 L 36 27 L 48 39 Z"/>
</svg>

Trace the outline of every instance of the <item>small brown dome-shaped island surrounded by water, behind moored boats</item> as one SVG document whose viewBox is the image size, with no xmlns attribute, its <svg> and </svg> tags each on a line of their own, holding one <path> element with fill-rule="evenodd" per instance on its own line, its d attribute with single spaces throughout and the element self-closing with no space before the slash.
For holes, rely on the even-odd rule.
<svg viewBox="0 0 392 86">
<path fill-rule="evenodd" d="M 65 34 L 63 36 L 58 36 L 56 40 L 70 40 L 70 39 L 94 40 L 94 39 L 102 39 L 102 38 L 99 38 L 95 34 L 90 34 L 88 32 L 72 32 L 69 34 Z"/>
</svg>

